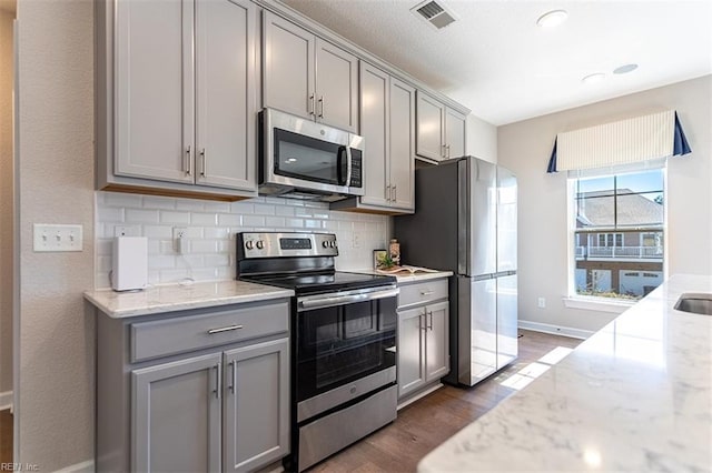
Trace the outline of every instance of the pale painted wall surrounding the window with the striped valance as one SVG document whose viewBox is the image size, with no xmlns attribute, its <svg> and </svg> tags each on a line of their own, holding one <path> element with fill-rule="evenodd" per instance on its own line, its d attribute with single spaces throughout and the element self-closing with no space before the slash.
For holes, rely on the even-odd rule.
<svg viewBox="0 0 712 473">
<path fill-rule="evenodd" d="M 547 174 L 557 132 L 675 109 L 693 152 L 669 160 L 669 273 L 712 273 L 712 76 L 552 113 L 498 128 L 498 162 L 520 183 L 520 320 L 597 330 L 615 314 L 566 309 L 566 175 Z M 537 309 L 537 298 L 546 309 Z"/>
</svg>

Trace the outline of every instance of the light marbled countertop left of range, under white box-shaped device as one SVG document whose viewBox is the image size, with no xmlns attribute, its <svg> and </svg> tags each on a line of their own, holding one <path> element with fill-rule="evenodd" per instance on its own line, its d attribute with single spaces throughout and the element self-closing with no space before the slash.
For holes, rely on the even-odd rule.
<svg viewBox="0 0 712 473">
<path fill-rule="evenodd" d="M 100 289 L 85 299 L 113 319 L 290 298 L 294 291 L 245 281 L 161 284 L 138 292 Z"/>
</svg>

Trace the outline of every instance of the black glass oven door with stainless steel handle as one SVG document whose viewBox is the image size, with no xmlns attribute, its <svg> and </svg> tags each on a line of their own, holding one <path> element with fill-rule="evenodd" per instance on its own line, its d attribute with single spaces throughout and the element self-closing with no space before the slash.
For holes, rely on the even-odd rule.
<svg viewBox="0 0 712 473">
<path fill-rule="evenodd" d="M 395 382 L 395 288 L 297 299 L 298 422 Z"/>
</svg>

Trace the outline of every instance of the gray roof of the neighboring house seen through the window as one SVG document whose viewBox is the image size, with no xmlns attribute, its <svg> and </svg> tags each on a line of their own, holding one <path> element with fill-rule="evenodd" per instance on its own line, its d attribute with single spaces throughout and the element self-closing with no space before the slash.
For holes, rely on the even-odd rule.
<svg viewBox="0 0 712 473">
<path fill-rule="evenodd" d="M 619 227 L 661 225 L 663 205 L 630 189 L 619 189 L 614 203 L 612 191 L 582 192 L 578 194 L 576 227 L 613 227 L 617 207 Z"/>
</svg>

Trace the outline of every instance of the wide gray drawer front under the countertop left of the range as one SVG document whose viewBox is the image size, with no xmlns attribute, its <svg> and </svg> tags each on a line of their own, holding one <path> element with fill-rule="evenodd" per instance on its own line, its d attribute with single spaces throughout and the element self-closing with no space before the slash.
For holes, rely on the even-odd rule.
<svg viewBox="0 0 712 473">
<path fill-rule="evenodd" d="M 130 326 L 131 362 L 224 345 L 288 330 L 287 302 L 137 322 Z"/>
</svg>

